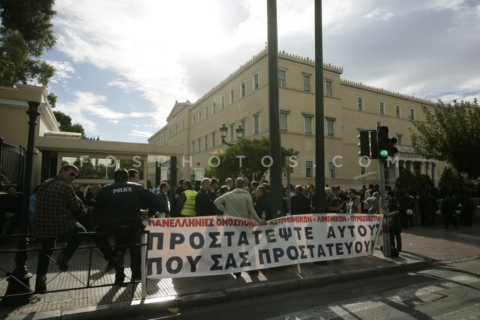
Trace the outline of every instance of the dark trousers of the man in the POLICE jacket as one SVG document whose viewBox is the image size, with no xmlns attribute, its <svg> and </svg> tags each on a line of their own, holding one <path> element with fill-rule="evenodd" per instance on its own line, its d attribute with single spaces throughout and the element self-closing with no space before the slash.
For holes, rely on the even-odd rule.
<svg viewBox="0 0 480 320">
<path fill-rule="evenodd" d="M 104 232 L 105 235 L 95 235 L 93 242 L 97 245 L 103 253 L 103 257 L 108 261 L 117 250 L 125 254 L 126 249 L 130 248 L 132 244 L 136 243 L 140 226 L 111 226 L 100 224 L 95 228 L 95 232 Z M 115 245 L 112 248 L 108 237 L 114 236 Z M 133 253 L 132 253 L 133 254 Z M 134 255 L 134 254 L 133 254 Z M 133 256 L 132 256 L 133 257 Z M 140 259 L 138 259 L 138 262 Z M 124 278 L 123 267 L 115 267 L 115 279 Z"/>
</svg>

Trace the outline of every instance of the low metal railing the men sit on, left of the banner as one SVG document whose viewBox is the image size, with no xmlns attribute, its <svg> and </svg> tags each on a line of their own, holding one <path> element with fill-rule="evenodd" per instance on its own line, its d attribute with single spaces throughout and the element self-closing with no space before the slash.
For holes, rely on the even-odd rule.
<svg viewBox="0 0 480 320">
<path fill-rule="evenodd" d="M 94 237 L 98 235 L 106 235 L 106 233 L 102 232 L 79 232 L 77 233 L 78 235 L 82 236 L 84 241 L 82 242 L 85 243 L 85 238 L 86 237 Z M 135 243 L 133 245 L 129 245 L 127 247 L 127 250 L 125 252 L 124 258 L 125 258 L 125 263 L 124 265 L 130 265 L 127 264 L 129 259 L 129 255 L 133 254 L 131 248 L 133 247 L 139 247 L 140 248 L 140 261 L 138 259 L 135 259 L 137 262 L 136 263 L 141 263 L 141 280 L 135 280 L 133 276 L 133 265 L 130 265 L 130 272 L 128 272 L 127 267 L 124 269 L 124 273 L 126 275 L 125 280 L 129 278 L 129 281 L 123 282 L 124 284 L 133 284 L 133 283 L 142 283 L 141 286 L 141 296 L 144 298 L 146 296 L 146 245 L 147 245 L 147 240 L 148 240 L 148 231 L 141 230 L 139 233 L 140 235 L 140 242 Z M 111 234 L 108 234 L 111 235 Z M 8 239 L 11 240 L 13 238 L 19 238 L 19 237 L 28 237 L 28 238 L 34 238 L 34 235 L 32 234 L 11 234 L 11 235 L 0 235 L 0 239 Z M 61 239 L 61 238 L 60 238 Z M 15 243 L 16 245 L 16 243 Z M 10 245 L 11 246 L 11 245 Z M 27 301 L 28 299 L 33 299 L 35 297 L 35 278 L 36 278 L 36 270 L 37 270 L 37 264 L 38 264 L 38 256 L 39 252 L 41 250 L 41 243 L 35 242 L 32 244 L 28 245 L 31 248 L 28 248 L 26 250 L 18 250 L 18 249 L 3 249 L 0 250 L 0 298 L 2 299 L 1 304 L 2 305 L 10 305 L 9 302 L 4 303 L 4 300 L 12 299 L 12 300 L 23 300 Z M 112 247 L 113 245 L 110 245 L 109 247 Z M 103 255 L 101 254 L 99 248 L 102 246 L 96 246 L 96 245 L 80 245 L 78 248 L 75 250 L 75 253 L 73 256 L 70 258 L 68 261 L 68 270 L 66 271 L 60 271 L 58 270 L 58 267 L 56 266 L 55 262 L 56 259 L 53 257 L 57 257 L 57 254 L 53 254 L 50 259 L 50 267 L 48 269 L 48 275 L 47 275 L 47 288 L 50 287 L 51 289 L 43 291 L 41 293 L 48 293 L 48 292 L 58 292 L 58 291 L 66 291 L 66 290 L 78 290 L 78 289 L 87 289 L 87 288 L 96 288 L 96 287 L 104 287 L 104 286 L 113 286 L 117 285 L 117 283 L 110 283 L 109 280 L 111 280 L 112 275 L 111 273 L 105 271 L 105 267 L 107 264 L 107 261 L 103 258 Z M 103 246 L 104 247 L 104 246 Z M 117 246 L 118 247 L 118 246 Z M 64 249 L 63 247 L 55 247 L 52 248 L 54 251 L 59 251 Z M 20 263 L 15 263 L 15 257 L 17 255 L 17 252 L 26 252 L 28 253 L 28 257 L 26 261 L 24 261 L 24 264 L 26 265 L 27 269 L 29 270 L 31 276 L 29 276 L 29 279 L 27 279 L 27 283 L 22 283 L 25 281 L 22 281 L 21 279 L 16 279 L 14 278 L 13 271 L 17 267 L 16 264 Z M 22 261 L 20 261 L 22 262 Z M 52 263 L 53 262 L 53 263 Z M 135 265 L 136 266 L 136 265 Z M 86 271 L 86 272 L 85 272 Z M 129 277 L 128 277 L 129 275 Z M 30 279 L 32 281 L 30 281 Z M 6 289 L 7 289 L 7 282 L 8 281 L 17 281 L 20 284 L 18 285 L 24 285 L 25 290 L 23 290 L 26 293 L 18 293 L 18 294 L 6 294 Z M 29 283 L 31 282 L 31 283 Z M 108 283 L 104 283 L 108 282 Z M 132 297 L 134 294 L 135 290 L 132 290 Z M 3 299 L 5 298 L 5 299 Z M 11 303 L 13 304 L 21 304 L 20 303 Z"/>
</svg>

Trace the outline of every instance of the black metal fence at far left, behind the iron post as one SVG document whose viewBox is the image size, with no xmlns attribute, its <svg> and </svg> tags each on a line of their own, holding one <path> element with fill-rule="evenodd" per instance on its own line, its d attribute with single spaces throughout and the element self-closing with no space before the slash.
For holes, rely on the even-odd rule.
<svg viewBox="0 0 480 320">
<path fill-rule="evenodd" d="M 2 186 L 0 184 L 0 191 L 5 191 L 7 184 L 14 185 L 17 191 L 23 191 L 25 153 L 23 146 L 5 143 L 0 137 L 0 177 L 3 174 L 8 181 Z"/>
</svg>

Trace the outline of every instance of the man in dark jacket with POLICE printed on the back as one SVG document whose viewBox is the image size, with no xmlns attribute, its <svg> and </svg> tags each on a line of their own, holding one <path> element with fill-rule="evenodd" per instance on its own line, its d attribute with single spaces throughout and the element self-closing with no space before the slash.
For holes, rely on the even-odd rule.
<svg viewBox="0 0 480 320">
<path fill-rule="evenodd" d="M 142 226 L 140 209 L 148 208 L 148 215 L 152 216 L 160 209 L 160 201 L 143 185 L 129 182 L 128 171 L 124 168 L 116 169 L 113 179 L 115 182 L 101 189 L 93 207 L 98 223 L 95 231 L 108 234 L 95 236 L 93 241 L 108 261 L 106 271 L 115 268 L 115 284 L 122 285 L 125 279 L 123 255 L 126 248 L 136 243 Z M 114 249 L 109 246 L 110 235 L 115 237 Z"/>
</svg>

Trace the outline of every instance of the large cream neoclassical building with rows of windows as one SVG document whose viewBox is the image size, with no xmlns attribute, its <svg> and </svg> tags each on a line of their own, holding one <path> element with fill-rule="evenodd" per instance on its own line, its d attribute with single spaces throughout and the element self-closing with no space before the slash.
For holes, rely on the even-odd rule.
<svg viewBox="0 0 480 320">
<path fill-rule="evenodd" d="M 359 162 L 358 132 L 375 129 L 376 121 L 398 139 L 398 161 L 385 168 L 386 184 L 393 185 L 398 166 L 428 174 L 437 182 L 444 163 L 425 159 L 410 146 L 409 117 L 422 118 L 420 103 L 433 102 L 398 92 L 341 79 L 342 67 L 323 64 L 325 183 L 361 187 L 377 183 L 377 160 Z M 314 183 L 315 77 L 314 61 L 284 51 L 278 54 L 281 145 L 300 152 L 291 174 L 292 184 Z M 148 143 L 182 145 L 184 158 L 177 161 L 177 179 L 203 177 L 210 153 L 226 148 L 219 127 L 228 128 L 225 140 L 234 143 L 235 128 L 244 138 L 269 135 L 267 48 L 230 73 L 194 103 L 175 101 L 167 124 L 148 138 Z M 247 155 L 245 155 L 247 156 Z M 191 161 L 190 161 L 191 158 Z M 164 161 L 160 161 L 164 162 Z M 169 162 L 150 163 L 148 178 L 169 179 Z M 159 178 L 158 175 L 161 175 Z M 283 179 L 286 185 L 286 177 Z"/>
</svg>

